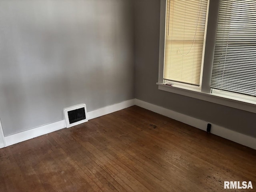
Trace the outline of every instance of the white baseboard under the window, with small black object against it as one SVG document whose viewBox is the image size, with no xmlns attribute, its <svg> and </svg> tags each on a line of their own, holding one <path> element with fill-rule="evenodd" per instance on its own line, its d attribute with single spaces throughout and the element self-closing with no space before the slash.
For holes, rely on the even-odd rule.
<svg viewBox="0 0 256 192">
<path fill-rule="evenodd" d="M 204 120 L 190 117 L 190 116 L 187 116 L 187 115 L 184 115 L 184 114 L 181 114 L 181 113 L 178 113 L 154 104 L 150 104 L 148 102 L 144 102 L 138 99 L 135 99 L 135 105 L 205 131 L 206 131 L 207 124 L 208 123 L 212 124 L 211 122 L 206 122 Z M 254 137 L 244 135 L 239 132 L 235 132 L 233 130 L 224 128 L 222 126 L 218 126 L 216 124 L 212 124 L 211 133 L 214 135 L 218 135 L 222 138 L 226 138 L 228 140 L 234 141 L 236 143 L 242 144 L 244 146 L 248 146 L 250 148 L 256 149 L 256 138 Z"/>
</svg>

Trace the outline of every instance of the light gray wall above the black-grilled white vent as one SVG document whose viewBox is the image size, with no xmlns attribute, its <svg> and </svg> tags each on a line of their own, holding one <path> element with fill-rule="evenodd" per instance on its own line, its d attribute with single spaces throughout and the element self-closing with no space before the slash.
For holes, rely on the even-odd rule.
<svg viewBox="0 0 256 192">
<path fill-rule="evenodd" d="M 134 98 L 130 0 L 0 0 L 4 135 Z"/>
</svg>

